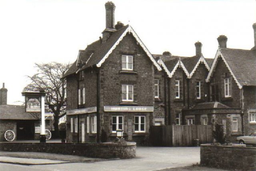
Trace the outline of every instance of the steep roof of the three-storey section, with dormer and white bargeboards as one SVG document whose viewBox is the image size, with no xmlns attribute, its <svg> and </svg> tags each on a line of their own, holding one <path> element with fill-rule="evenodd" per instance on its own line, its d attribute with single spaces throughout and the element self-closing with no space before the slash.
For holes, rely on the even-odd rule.
<svg viewBox="0 0 256 171">
<path fill-rule="evenodd" d="M 106 40 L 104 43 L 100 43 L 100 40 L 95 41 L 94 43 L 88 45 L 88 47 L 84 51 L 80 51 L 80 54 L 78 55 L 78 58 L 80 57 L 81 53 L 84 53 L 84 63 L 86 63 L 80 70 L 91 67 L 93 65 L 96 65 L 97 67 L 100 67 L 102 63 L 108 58 L 108 56 L 112 53 L 112 51 L 116 48 L 116 46 L 122 41 L 124 36 L 126 34 L 132 34 L 136 41 L 140 44 L 142 49 L 146 52 L 152 63 L 155 65 L 155 67 L 161 71 L 162 68 L 158 65 L 150 51 L 146 48 L 144 43 L 140 40 L 134 29 L 130 25 L 126 25 L 117 31 L 114 31 L 110 37 Z M 90 52 L 90 53 L 88 53 Z M 90 56 L 89 56 L 90 54 Z M 87 61 L 85 61 L 87 60 Z M 79 62 L 79 61 L 77 61 Z M 75 62 L 76 63 L 76 62 Z M 67 77 L 70 74 L 75 73 L 78 71 L 78 68 L 74 64 L 70 67 L 70 69 L 64 74 L 64 77 Z"/>
</svg>

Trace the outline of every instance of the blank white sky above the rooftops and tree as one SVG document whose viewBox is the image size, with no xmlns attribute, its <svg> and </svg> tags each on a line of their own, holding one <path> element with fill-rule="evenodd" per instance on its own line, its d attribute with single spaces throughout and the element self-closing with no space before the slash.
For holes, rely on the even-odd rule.
<svg viewBox="0 0 256 171">
<path fill-rule="evenodd" d="M 24 101 L 22 89 L 34 63 L 72 63 L 78 50 L 96 41 L 105 28 L 107 0 L 0 0 L 0 88 L 8 104 Z M 152 54 L 195 55 L 201 41 L 204 57 L 213 58 L 216 38 L 227 47 L 251 49 L 255 0 L 112 0 L 115 18 L 134 28 Z"/>
</svg>

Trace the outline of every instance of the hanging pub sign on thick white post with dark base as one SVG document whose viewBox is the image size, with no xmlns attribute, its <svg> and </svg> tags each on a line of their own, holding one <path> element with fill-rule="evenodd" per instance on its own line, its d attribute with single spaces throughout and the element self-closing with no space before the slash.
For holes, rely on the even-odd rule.
<svg viewBox="0 0 256 171">
<path fill-rule="evenodd" d="M 46 142 L 44 111 L 45 91 L 25 91 L 22 92 L 22 96 L 25 96 L 26 112 L 41 112 L 40 142 Z"/>
</svg>

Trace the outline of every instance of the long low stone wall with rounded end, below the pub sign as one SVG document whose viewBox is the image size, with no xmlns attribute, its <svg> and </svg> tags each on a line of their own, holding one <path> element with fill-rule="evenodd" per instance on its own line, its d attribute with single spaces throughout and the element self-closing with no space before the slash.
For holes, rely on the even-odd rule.
<svg viewBox="0 0 256 171">
<path fill-rule="evenodd" d="M 130 159 L 136 155 L 136 143 L 0 143 L 0 151 L 24 151 L 79 155 L 102 159 Z"/>
</svg>

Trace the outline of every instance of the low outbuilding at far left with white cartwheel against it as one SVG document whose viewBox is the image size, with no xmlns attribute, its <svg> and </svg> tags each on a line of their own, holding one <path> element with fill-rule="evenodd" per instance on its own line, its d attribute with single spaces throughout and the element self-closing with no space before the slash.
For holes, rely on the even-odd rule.
<svg viewBox="0 0 256 171">
<path fill-rule="evenodd" d="M 14 140 L 39 140 L 40 114 L 25 111 L 25 106 L 7 104 L 7 88 L 0 89 L 0 141 L 6 141 L 4 134 L 12 130 Z M 52 117 L 46 117 L 46 129 L 50 130 Z M 39 132 L 38 132 L 39 130 Z"/>
</svg>

